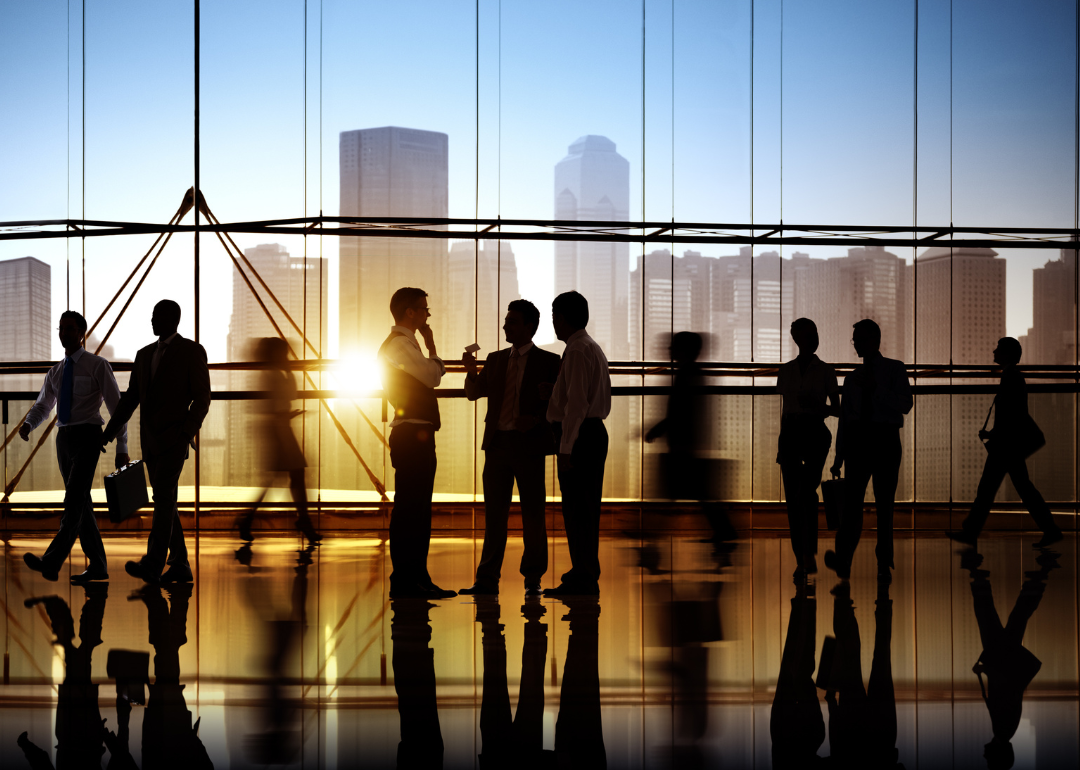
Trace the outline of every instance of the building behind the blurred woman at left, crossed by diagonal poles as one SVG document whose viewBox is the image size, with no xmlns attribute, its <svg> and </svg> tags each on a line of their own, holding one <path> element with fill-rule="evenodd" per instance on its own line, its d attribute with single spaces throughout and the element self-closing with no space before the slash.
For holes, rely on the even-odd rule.
<svg viewBox="0 0 1080 770">
<path fill-rule="evenodd" d="M 264 243 L 254 248 L 244 249 L 244 255 L 252 264 L 258 274 L 266 282 L 270 291 L 278 298 L 288 314 L 292 316 L 305 334 L 308 340 L 314 345 L 321 353 L 326 340 L 326 260 L 319 258 L 293 257 L 284 246 L 278 243 Z M 252 283 L 259 292 L 267 309 L 273 314 L 278 326 L 285 333 L 285 338 L 297 355 L 307 359 L 318 357 L 316 352 L 308 348 L 303 353 L 300 336 L 293 328 L 276 305 L 271 300 L 261 285 L 254 278 Z M 321 291 L 320 291 L 321 288 Z M 251 289 L 240 275 L 233 271 L 232 276 L 232 316 L 229 321 L 229 335 L 227 337 L 229 361 L 253 361 L 254 341 L 259 337 L 276 337 L 278 333 L 267 319 L 262 308 L 252 295 Z M 231 372 L 229 373 L 230 390 L 256 390 L 258 388 L 259 376 L 254 372 Z M 303 389 L 303 381 L 297 375 L 297 387 Z M 300 408 L 297 405 L 297 408 Z M 225 434 L 225 447 L 222 457 L 222 482 L 228 485 L 251 486 L 258 483 L 255 471 L 258 469 L 256 443 L 258 441 L 255 425 L 252 420 L 251 402 L 230 401 L 224 408 L 212 407 L 211 416 L 222 415 L 226 425 L 222 429 Z M 310 416 L 314 417 L 316 413 Z M 218 427 L 211 417 L 207 428 L 216 432 Z M 308 430 L 314 428 L 314 421 L 308 422 Z M 295 421 L 294 428 L 300 430 L 299 420 Z M 309 451 L 314 447 L 310 436 L 306 437 Z M 207 470 L 213 473 L 213 463 L 203 460 Z M 324 475 L 326 471 L 324 469 Z M 211 482 L 207 482 L 211 483 Z"/>
</svg>

